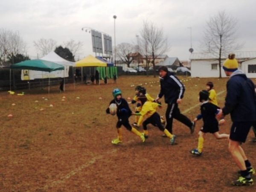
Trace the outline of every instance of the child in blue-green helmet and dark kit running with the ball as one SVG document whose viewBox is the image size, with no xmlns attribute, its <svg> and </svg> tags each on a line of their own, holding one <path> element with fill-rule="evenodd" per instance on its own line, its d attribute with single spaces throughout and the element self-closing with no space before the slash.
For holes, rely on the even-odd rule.
<svg viewBox="0 0 256 192">
<path fill-rule="evenodd" d="M 122 128 L 123 125 L 128 131 L 133 132 L 137 136 L 140 137 L 142 142 L 145 142 L 145 137 L 143 133 L 140 133 L 136 128 L 131 127 L 129 123 L 129 117 L 131 116 L 131 109 L 129 108 L 129 105 L 125 99 L 122 98 L 122 92 L 120 89 L 114 89 L 113 90 L 113 97 L 114 99 L 110 102 L 109 105 L 112 103 L 116 104 L 117 106 L 117 112 L 116 116 L 118 118 L 118 121 L 116 123 L 117 128 L 117 138 L 112 140 L 112 144 L 117 145 L 119 143 L 122 143 Z M 110 113 L 109 108 L 106 110 L 107 113 Z"/>
</svg>

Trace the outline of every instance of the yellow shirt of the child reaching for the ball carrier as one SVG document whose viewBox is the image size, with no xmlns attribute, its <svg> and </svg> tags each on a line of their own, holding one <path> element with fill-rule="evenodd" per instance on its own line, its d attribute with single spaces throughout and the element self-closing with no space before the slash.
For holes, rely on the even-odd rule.
<svg viewBox="0 0 256 192">
<path fill-rule="evenodd" d="M 140 115 L 140 119 L 137 123 L 138 126 L 140 126 L 143 122 L 144 116 L 150 117 L 153 115 L 156 111 L 157 108 L 159 107 L 159 104 L 156 102 L 145 102 L 144 105 L 141 108 L 140 113 L 137 113 L 137 115 Z"/>
</svg>

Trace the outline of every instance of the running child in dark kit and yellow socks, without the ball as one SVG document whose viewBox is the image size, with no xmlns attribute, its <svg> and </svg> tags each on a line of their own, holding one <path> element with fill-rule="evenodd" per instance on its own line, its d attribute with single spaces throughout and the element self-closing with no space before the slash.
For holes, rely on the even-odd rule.
<svg viewBox="0 0 256 192">
<path fill-rule="evenodd" d="M 202 90 L 199 92 L 199 101 L 201 104 L 201 114 L 194 119 L 196 122 L 203 118 L 204 125 L 199 131 L 198 135 L 198 148 L 191 151 L 192 154 L 201 155 L 204 146 L 204 136 L 206 133 L 211 133 L 216 139 L 228 139 L 228 134 L 219 134 L 218 120 L 216 119 L 216 114 L 218 113 L 219 107 L 213 105 L 209 102 L 209 92 L 207 90 Z"/>
</svg>

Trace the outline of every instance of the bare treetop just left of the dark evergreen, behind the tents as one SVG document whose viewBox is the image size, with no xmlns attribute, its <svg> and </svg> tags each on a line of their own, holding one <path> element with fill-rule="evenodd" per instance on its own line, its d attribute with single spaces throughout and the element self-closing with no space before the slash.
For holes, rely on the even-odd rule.
<svg viewBox="0 0 256 192">
<path fill-rule="evenodd" d="M 54 39 L 41 38 L 38 41 L 34 41 L 34 47 L 40 52 L 41 56 L 47 55 L 57 47 L 57 41 Z"/>
</svg>

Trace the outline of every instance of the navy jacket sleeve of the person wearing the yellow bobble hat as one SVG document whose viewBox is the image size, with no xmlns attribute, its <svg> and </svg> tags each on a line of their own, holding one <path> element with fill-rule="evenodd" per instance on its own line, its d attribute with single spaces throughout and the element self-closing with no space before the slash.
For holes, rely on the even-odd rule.
<svg viewBox="0 0 256 192">
<path fill-rule="evenodd" d="M 227 82 L 227 96 L 225 99 L 225 106 L 222 109 L 224 115 L 229 114 L 236 107 L 239 96 L 241 95 L 240 91 L 241 89 L 238 83 L 232 82 L 232 79 Z"/>
</svg>

